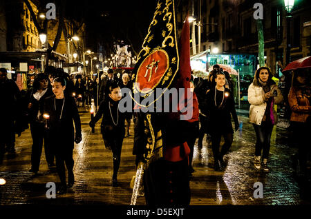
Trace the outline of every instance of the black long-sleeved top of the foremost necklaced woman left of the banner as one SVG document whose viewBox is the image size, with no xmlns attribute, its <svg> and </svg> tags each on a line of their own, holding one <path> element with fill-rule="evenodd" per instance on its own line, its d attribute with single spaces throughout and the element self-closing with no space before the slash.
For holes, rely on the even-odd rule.
<svg viewBox="0 0 311 219">
<path fill-rule="evenodd" d="M 57 114 L 57 111 L 55 111 L 55 103 L 57 107 L 57 101 L 60 100 L 55 99 L 55 96 L 50 96 L 44 101 L 44 113 L 50 115 L 50 138 L 54 147 L 73 148 L 75 133 L 77 136 L 81 136 L 81 121 L 77 110 L 77 105 L 75 104 L 75 99 L 71 96 L 65 97 L 61 120 L 59 120 L 59 114 Z M 62 101 L 60 102 L 62 103 Z M 62 104 L 60 104 L 60 107 L 62 107 Z M 57 107 L 57 109 L 60 107 Z M 73 127 L 73 122 L 75 123 L 75 130 Z"/>
</svg>

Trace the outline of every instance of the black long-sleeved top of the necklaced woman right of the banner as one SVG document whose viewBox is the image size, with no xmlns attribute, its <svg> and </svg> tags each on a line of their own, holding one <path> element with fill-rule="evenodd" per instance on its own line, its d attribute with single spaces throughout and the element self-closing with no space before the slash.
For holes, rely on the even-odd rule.
<svg viewBox="0 0 311 219">
<path fill-rule="evenodd" d="M 221 107 L 215 105 L 215 89 L 207 92 L 206 100 L 209 106 L 210 114 L 210 131 L 218 133 L 233 132 L 231 115 L 234 119 L 234 123 L 238 124 L 238 116 L 236 115 L 236 108 L 234 105 L 234 96 L 229 89 L 225 88 L 225 93 L 228 96 L 224 98 Z"/>
</svg>

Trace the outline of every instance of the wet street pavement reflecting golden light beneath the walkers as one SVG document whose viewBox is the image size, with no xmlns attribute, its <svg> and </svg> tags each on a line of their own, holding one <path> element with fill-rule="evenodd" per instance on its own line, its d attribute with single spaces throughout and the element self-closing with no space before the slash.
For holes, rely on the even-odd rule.
<svg viewBox="0 0 311 219">
<path fill-rule="evenodd" d="M 44 152 L 38 176 L 29 172 L 32 138 L 30 129 L 23 132 L 16 142 L 17 157 L 3 161 L 0 178 L 0 205 L 129 205 L 135 174 L 135 157 L 132 155 L 133 135 L 124 138 L 119 187 L 111 187 L 112 154 L 105 149 L 100 134 L 100 122 L 91 133 L 88 126 L 90 114 L 81 112 L 82 142 L 75 145 L 75 185 L 68 193 L 55 199 L 46 198 L 46 183 L 59 183 L 55 172 L 50 172 Z M 292 156 L 292 138 L 285 129 L 274 127 L 272 132 L 269 173 L 255 171 L 253 167 L 254 129 L 245 114 L 238 116 L 241 129 L 234 134 L 234 143 L 225 161 L 223 172 L 214 171 L 211 146 L 203 140 L 203 147 L 195 146 L 194 169 L 191 178 L 191 205 L 310 205 L 310 196 L 295 177 Z M 133 122 L 131 123 L 133 134 Z M 254 183 L 263 183 L 263 198 L 254 198 Z M 309 191 L 310 194 L 310 191 Z M 140 196 L 138 205 L 145 205 Z"/>
</svg>

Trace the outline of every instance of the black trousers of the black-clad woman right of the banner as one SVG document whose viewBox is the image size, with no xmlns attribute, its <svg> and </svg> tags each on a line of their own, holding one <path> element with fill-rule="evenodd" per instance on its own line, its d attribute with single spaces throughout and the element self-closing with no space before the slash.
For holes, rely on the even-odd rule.
<svg viewBox="0 0 311 219">
<path fill-rule="evenodd" d="M 221 148 L 221 152 L 219 152 L 220 147 L 220 140 L 221 136 L 223 136 L 225 143 Z M 224 156 L 229 151 L 233 142 L 233 133 L 220 133 L 220 132 L 213 132 L 211 133 L 211 148 L 213 149 L 214 160 L 218 160 L 220 156 Z"/>
</svg>

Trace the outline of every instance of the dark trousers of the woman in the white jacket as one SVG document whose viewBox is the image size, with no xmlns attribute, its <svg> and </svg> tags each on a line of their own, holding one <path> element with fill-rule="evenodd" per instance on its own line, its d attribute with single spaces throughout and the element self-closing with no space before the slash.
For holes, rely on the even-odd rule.
<svg viewBox="0 0 311 219">
<path fill-rule="evenodd" d="M 256 132 L 256 145 L 255 145 L 255 156 L 261 156 L 263 152 L 263 159 L 269 158 L 270 152 L 270 140 L 273 125 L 272 123 L 263 122 L 261 125 L 253 124 Z"/>
</svg>

